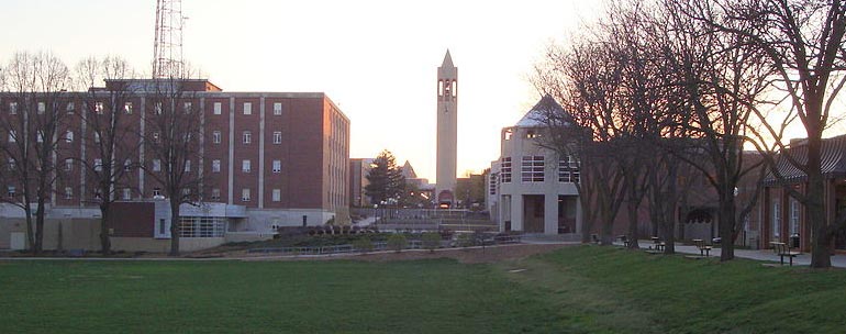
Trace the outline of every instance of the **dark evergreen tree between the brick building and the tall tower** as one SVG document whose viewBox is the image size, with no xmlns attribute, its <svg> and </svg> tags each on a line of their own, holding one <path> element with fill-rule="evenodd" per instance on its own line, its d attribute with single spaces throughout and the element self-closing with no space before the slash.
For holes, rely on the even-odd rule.
<svg viewBox="0 0 846 334">
<path fill-rule="evenodd" d="M 405 189 L 405 177 L 402 176 L 402 168 L 397 166 L 393 154 L 385 149 L 379 153 L 367 174 L 369 185 L 365 187 L 365 193 L 370 197 L 374 203 L 398 200 Z"/>
</svg>

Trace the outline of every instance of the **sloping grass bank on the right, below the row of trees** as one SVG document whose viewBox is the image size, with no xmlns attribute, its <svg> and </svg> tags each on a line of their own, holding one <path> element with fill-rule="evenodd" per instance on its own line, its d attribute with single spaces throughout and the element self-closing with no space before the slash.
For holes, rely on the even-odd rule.
<svg viewBox="0 0 846 334">
<path fill-rule="evenodd" d="M 597 246 L 502 266 L 527 269 L 512 279 L 547 291 L 547 302 L 590 332 L 842 333 L 846 325 L 846 271 L 839 269 Z"/>
</svg>

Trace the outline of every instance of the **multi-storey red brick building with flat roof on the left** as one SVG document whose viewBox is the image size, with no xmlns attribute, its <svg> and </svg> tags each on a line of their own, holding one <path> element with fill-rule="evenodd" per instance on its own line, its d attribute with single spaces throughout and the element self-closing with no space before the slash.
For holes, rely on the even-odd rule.
<svg viewBox="0 0 846 334">
<path fill-rule="evenodd" d="M 132 170 L 115 186 L 121 189 L 113 196 L 126 202 L 159 197 L 160 186 L 149 174 L 158 172 L 156 166 L 162 162 L 152 157 L 146 145 L 137 143 L 142 137 L 149 138 L 152 121 L 162 113 L 162 99 L 154 97 L 153 91 L 162 82 L 108 80 L 105 88 L 63 94 L 59 103 L 67 116 L 56 131 L 63 140 L 58 141 L 55 154 L 58 178 L 49 199 L 51 209 L 97 207 L 102 194 L 90 175 L 86 175 L 90 171 L 80 165 L 96 165 L 101 159 L 87 149 L 99 137 L 90 122 L 84 122 L 79 115 L 93 116 L 110 112 L 109 109 L 123 113 L 120 122 L 130 129 L 124 137 L 125 151 L 132 152 L 124 165 Z M 226 92 L 204 79 L 182 80 L 179 85 L 182 94 L 175 110 L 191 112 L 200 124 L 198 160 L 188 163 L 185 169 L 203 175 L 199 201 L 237 209 L 232 211 L 240 212 L 238 216 L 225 220 L 226 232 L 267 234 L 276 226 L 348 220 L 349 120 L 325 93 Z M 116 90 L 127 91 L 122 97 L 125 102 L 121 110 L 104 108 Z M 37 94 L 33 97 L 37 99 Z M 9 107 L 0 108 L 0 112 L 9 113 L 18 103 L 38 103 L 20 99 L 14 93 L 0 94 L 0 105 Z M 31 111 L 22 110 L 25 112 Z M 0 135 L 2 141 L 9 137 L 9 133 Z M 3 182 L 4 190 L 19 187 L 13 177 L 4 177 Z M 5 191 L 2 196 L 14 193 Z M 14 215 L 13 211 L 0 210 L 0 216 Z M 114 226 L 115 234 L 120 234 L 121 222 Z"/>
</svg>

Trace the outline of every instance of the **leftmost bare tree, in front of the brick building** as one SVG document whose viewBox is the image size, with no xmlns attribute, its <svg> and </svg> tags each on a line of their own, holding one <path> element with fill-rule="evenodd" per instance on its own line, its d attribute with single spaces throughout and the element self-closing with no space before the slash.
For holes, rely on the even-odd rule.
<svg viewBox="0 0 846 334">
<path fill-rule="evenodd" d="M 60 176 L 55 163 L 58 134 L 67 126 L 68 69 L 53 54 L 42 52 L 16 53 L 3 71 L 9 91 L 0 109 L 0 127 L 7 136 L 0 149 L 8 158 L 10 185 L 2 201 L 23 210 L 29 247 L 40 254 L 46 207 Z"/>
</svg>

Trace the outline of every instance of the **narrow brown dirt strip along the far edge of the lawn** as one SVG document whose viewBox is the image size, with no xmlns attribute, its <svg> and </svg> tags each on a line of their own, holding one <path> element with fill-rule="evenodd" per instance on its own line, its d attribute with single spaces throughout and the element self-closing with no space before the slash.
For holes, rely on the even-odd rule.
<svg viewBox="0 0 846 334">
<path fill-rule="evenodd" d="M 345 254 L 334 256 L 260 256 L 244 258 L 245 260 L 363 260 L 363 261 L 394 261 L 434 258 L 454 258 L 463 264 L 497 263 L 517 259 L 535 254 L 548 253 L 568 244 L 516 244 L 472 248 L 446 248 L 435 252 L 407 249 L 400 253 L 379 252 L 368 254 Z"/>
</svg>

